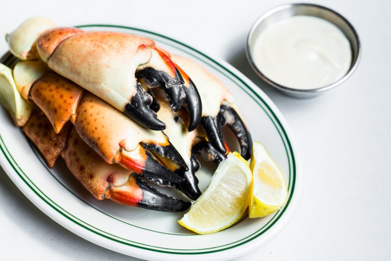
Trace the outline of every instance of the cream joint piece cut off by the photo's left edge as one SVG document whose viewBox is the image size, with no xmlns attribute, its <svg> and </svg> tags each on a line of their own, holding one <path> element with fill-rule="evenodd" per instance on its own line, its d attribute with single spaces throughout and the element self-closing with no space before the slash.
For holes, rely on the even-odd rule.
<svg viewBox="0 0 391 261">
<path fill-rule="evenodd" d="M 30 117 L 32 105 L 18 92 L 12 70 L 0 64 L 0 103 L 18 126 L 23 126 Z"/>
</svg>

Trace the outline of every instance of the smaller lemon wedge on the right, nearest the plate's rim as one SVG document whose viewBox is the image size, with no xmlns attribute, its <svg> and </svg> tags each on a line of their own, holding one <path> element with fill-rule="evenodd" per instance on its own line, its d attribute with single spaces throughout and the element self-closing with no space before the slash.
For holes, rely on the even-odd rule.
<svg viewBox="0 0 391 261">
<path fill-rule="evenodd" d="M 288 197 L 284 176 L 261 142 L 254 142 L 251 153 L 253 187 L 248 217 L 272 214 L 282 207 Z"/>
</svg>

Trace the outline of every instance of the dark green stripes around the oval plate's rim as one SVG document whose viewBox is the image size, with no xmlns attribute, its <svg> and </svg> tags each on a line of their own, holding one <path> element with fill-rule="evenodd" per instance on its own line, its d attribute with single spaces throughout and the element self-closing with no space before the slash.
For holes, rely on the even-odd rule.
<svg viewBox="0 0 391 261">
<path fill-rule="evenodd" d="M 121 26 L 121 25 L 104 25 L 104 24 L 89 24 L 89 25 L 80 25 L 80 26 L 77 26 L 77 27 L 112 27 L 112 28 L 120 28 L 120 29 L 127 29 L 127 30 L 134 30 L 134 31 L 138 31 L 138 32 L 143 32 L 143 33 L 147 33 L 147 34 L 151 34 L 153 36 L 157 36 L 157 37 L 160 37 L 162 39 L 165 39 L 165 40 L 169 40 L 171 42 L 174 42 L 175 44 L 177 44 L 178 46 L 182 46 L 182 47 L 185 47 L 185 48 L 188 48 L 190 49 L 191 51 L 195 52 L 196 54 L 202 56 L 204 59 L 206 60 L 202 60 L 203 62 L 207 63 L 209 66 L 213 67 L 215 70 L 219 71 L 220 73 L 224 74 L 226 77 L 228 77 L 230 80 L 232 80 L 234 83 L 236 83 L 239 88 L 241 88 L 243 91 L 245 91 L 245 93 L 247 95 L 249 95 L 254 101 L 257 102 L 258 105 L 260 105 L 260 107 L 262 108 L 262 110 L 268 115 L 269 119 L 272 120 L 273 124 L 275 125 L 277 131 L 279 132 L 279 135 L 282 139 L 282 142 L 284 144 L 284 147 L 285 147 L 285 151 L 286 151 L 286 154 L 287 154 L 287 159 L 288 159 L 288 166 L 289 166 L 289 181 L 288 181 L 288 184 L 289 184 L 289 187 L 291 186 L 291 191 L 290 191 L 290 194 L 289 194 L 289 198 L 284 206 L 283 209 L 279 210 L 273 217 L 272 219 L 269 220 L 269 222 L 267 224 L 265 224 L 261 229 L 259 229 L 258 231 L 256 231 L 255 233 L 247 236 L 247 237 L 244 237 L 240 240 L 237 240 L 235 242 L 232 242 L 232 243 L 229 243 L 229 244 L 225 244 L 225 245 L 221 245 L 221 246 L 216 246 L 216 247 L 212 247 L 212 248 L 203 248 L 203 249 L 171 249 L 171 248 L 163 248 L 163 247 L 158 247 L 158 246 L 151 246 L 151 245 L 146 245 L 146 244 L 142 244 L 142 243 L 138 243 L 138 242 L 134 242 L 134 241 L 131 241 L 129 239 L 125 239 L 125 238 L 121 238 L 121 237 L 117 237 L 115 235 L 111 235 L 105 231 L 102 231 L 98 228 L 95 228 L 91 225 L 89 225 L 88 223 L 86 223 L 85 221 L 83 220 L 80 220 L 79 218 L 77 218 L 76 216 L 66 212 L 64 209 L 62 209 L 59 205 L 57 205 L 55 202 L 53 202 L 50 198 L 48 198 L 42 190 L 40 190 L 29 178 L 28 176 L 23 172 L 23 170 L 18 166 L 18 164 L 16 163 L 16 161 L 13 159 L 12 155 L 9 153 L 5 143 L 3 142 L 3 139 L 0 135 L 0 149 L 1 149 L 1 152 L 3 153 L 3 155 L 5 156 L 5 158 L 7 159 L 8 163 L 10 164 L 10 166 L 12 166 L 12 168 L 14 169 L 14 171 L 18 174 L 18 176 L 22 179 L 22 181 L 38 196 L 40 197 L 47 205 L 49 205 L 52 209 L 54 209 L 55 211 L 57 211 L 59 214 L 63 215 L 65 218 L 67 218 L 68 220 L 74 222 L 75 224 L 85 228 L 86 230 L 96 234 L 96 235 L 99 235 L 101 237 L 104 237 L 104 238 L 107 238 L 109 240 L 112 240 L 112 241 L 115 241 L 115 242 L 118 242 L 118 243 L 121 243 L 121 244 L 125 244 L 125 245 L 129 245 L 129 246 L 133 246 L 133 247 L 136 247 L 136 248 L 140 248 L 140 249 L 145 249 L 145 250 L 151 250 L 151 251 L 155 251 L 155 252 L 160 252 L 160 253 L 167 253 L 167 254 L 184 254 L 184 255 L 187 255 L 187 254 L 190 254 L 190 255 L 194 255 L 194 254 L 207 254 L 207 253 L 214 253 L 214 252 L 219 252 L 219 251 L 224 251 L 224 250 L 228 250 L 228 249 L 232 249 L 232 248 L 235 248 L 235 247 L 238 247 L 242 244 L 245 244 L 259 236 L 261 236 L 263 233 L 265 233 L 267 230 L 269 230 L 279 219 L 280 217 L 282 216 L 282 214 L 285 212 L 285 210 L 287 209 L 291 199 L 292 199 L 292 196 L 293 196 L 293 192 L 294 192 L 294 189 L 295 189 L 295 183 L 296 183 L 296 163 L 295 163 L 295 158 L 294 158 L 294 154 L 293 154 L 293 149 L 292 149 L 292 146 L 291 146 L 291 143 L 288 139 L 288 136 L 286 134 L 286 131 L 284 130 L 283 126 L 282 126 L 282 123 L 280 122 L 280 120 L 277 118 L 277 116 L 275 115 L 275 113 L 271 110 L 271 108 L 269 107 L 269 105 L 261 98 L 260 95 L 257 94 L 257 92 L 253 89 L 251 89 L 250 86 L 248 86 L 241 78 L 239 78 L 238 75 L 236 75 L 235 73 L 233 73 L 232 71 L 230 71 L 229 69 L 227 69 L 226 67 L 224 67 L 223 65 L 221 65 L 220 63 L 218 63 L 216 60 L 210 58 L 209 56 L 201 53 L 200 51 L 194 49 L 193 47 L 189 47 L 187 46 L 186 44 L 183 44 L 179 41 L 176 41 L 174 39 L 171 39 L 169 37 L 166 37 L 164 35 L 161 35 L 161 34 L 158 34 L 158 33 L 154 33 L 154 32 L 151 32 L 151 31 L 148 31 L 148 30 L 143 30 L 143 29 L 139 29 L 139 28 L 133 28 L 133 27 L 128 27 L 128 26 Z M 169 45 L 169 46 L 173 46 L 175 48 L 179 48 L 181 49 L 182 51 L 194 56 L 195 58 L 198 58 L 200 59 L 199 57 L 196 57 L 194 55 L 194 53 L 191 53 L 189 52 L 188 50 L 186 49 L 183 49 L 183 48 L 180 48 L 178 46 L 174 46 L 173 44 L 171 44 L 170 42 L 166 42 L 164 41 L 165 44 Z M 8 59 L 7 59 L 8 60 Z M 201 59 L 200 59 L 201 60 Z M 209 63 L 209 62 L 212 62 L 213 64 Z M 223 69 L 224 71 L 221 71 L 219 70 L 217 67 Z M 225 72 L 228 72 L 228 75 L 225 73 Z M 241 84 L 238 84 L 241 83 Z M 243 87 L 245 86 L 245 88 Z M 258 99 L 257 99 L 258 98 Z M 259 102 L 261 101 L 261 103 Z M 266 109 L 265 109 L 265 107 Z M 277 124 L 276 124 L 277 122 Z M 282 133 L 280 132 L 280 129 L 279 127 L 281 128 L 282 130 Z M 285 140 L 286 142 L 288 143 L 288 148 L 285 144 Z M 5 153 L 5 150 L 7 151 L 7 153 L 9 154 L 9 156 L 11 157 L 12 161 L 14 163 L 11 162 L 10 158 L 7 156 L 7 154 Z M 288 152 L 289 150 L 289 152 Z M 292 157 L 292 160 L 290 160 L 290 157 Z M 292 171 L 291 171 L 291 164 L 292 164 Z M 44 165 L 44 164 L 43 164 Z M 45 165 L 44 165 L 45 166 Z M 46 166 L 45 166 L 46 167 Z M 22 172 L 20 172 L 20 171 Z M 50 171 L 49 171 L 50 172 Z M 23 175 L 22 175 L 23 174 Z M 51 173 L 52 174 L 52 173 Z M 53 174 L 52 174 L 53 175 Z M 37 189 L 39 190 L 39 192 L 37 190 L 35 190 L 33 188 L 33 186 L 27 182 L 27 180 Z M 60 182 L 61 185 L 63 185 L 61 182 Z M 64 186 L 64 185 L 63 185 Z M 65 186 L 64 186 L 65 187 Z M 66 188 L 66 187 L 65 187 Z M 67 188 L 66 188 L 67 189 Z M 41 194 L 42 193 L 42 194 Z M 79 198 L 79 197 L 78 197 Z M 80 199 L 80 198 L 79 198 Z M 87 202 L 85 202 L 87 203 Z M 55 206 L 54 206 L 55 205 Z M 89 204 L 88 204 L 89 205 Z M 56 207 L 57 206 L 57 207 Z M 91 205 L 90 205 L 91 206 Z M 92 207 L 92 206 L 91 206 Z M 94 208 L 96 209 L 96 208 Z M 99 211 L 99 210 L 98 210 Z M 68 215 L 67 215 L 68 214 Z M 104 213 L 105 214 L 105 213 Z M 279 215 L 278 215 L 279 214 Z M 108 215 L 108 214 L 107 214 Z M 278 216 L 277 216 L 278 215 Z M 277 217 L 276 217 L 277 216 Z M 112 216 L 110 216 L 112 217 Z M 112 217 L 114 218 L 114 217 Z M 116 218 L 115 218 L 116 219 Z M 124 222 L 126 223 L 125 221 L 122 221 L 122 220 L 119 220 L 117 219 L 118 221 L 121 221 L 121 222 Z M 83 224 L 84 223 L 84 224 Z M 129 223 L 127 223 L 129 224 Z M 131 224 L 129 224 L 131 225 Z M 134 226 L 134 225 L 132 225 Z M 266 227 L 267 226 L 267 227 Z M 137 226 L 135 226 L 137 227 Z M 266 227 L 266 228 L 265 228 Z M 140 227 L 138 227 L 140 228 Z M 265 228 L 264 230 L 262 230 L 263 228 Z M 95 230 L 94 230 L 95 229 Z M 141 228 L 141 229 L 145 229 L 145 228 Z M 96 231 L 97 230 L 97 231 Z M 149 230 L 149 229 L 145 229 L 145 230 Z M 151 231 L 151 230 L 150 230 Z M 157 231 L 154 231 L 156 233 L 162 233 L 162 234 L 169 234 L 169 233 L 163 233 L 163 232 L 157 232 Z M 257 234 L 258 233 L 258 234 Z M 106 234 L 106 235 L 105 235 Z M 187 235 L 183 235 L 183 234 L 170 234 L 170 235 L 176 235 L 176 236 L 187 236 Z M 195 235 L 197 236 L 197 235 Z M 115 237 L 115 238 L 113 238 Z M 249 238 L 251 237 L 251 238 Z M 125 240 L 125 241 L 122 241 L 122 240 Z M 243 241 L 244 240 L 244 241 Z M 238 243 L 239 242 L 239 243 Z M 139 245 L 135 245 L 134 243 L 136 244 L 139 244 Z M 232 244 L 235 244 L 235 243 L 238 243 L 236 245 L 232 245 Z M 231 246 L 228 246 L 228 245 L 231 245 Z M 228 247 L 225 247 L 225 248 L 220 248 L 220 249 L 215 249 L 215 250 L 209 250 L 209 249 L 214 249 L 214 248 L 218 248 L 218 247 L 224 247 L 224 246 L 228 246 Z M 154 248 L 158 248 L 158 249 L 154 249 L 154 248 L 150 248 L 150 247 L 154 247 Z M 163 249 L 163 250 L 161 250 Z M 209 250 L 209 251 L 202 251 L 202 252 L 173 252 L 173 251 L 168 251 L 168 250 L 176 250 L 176 251 L 198 251 L 198 250 Z"/>
</svg>

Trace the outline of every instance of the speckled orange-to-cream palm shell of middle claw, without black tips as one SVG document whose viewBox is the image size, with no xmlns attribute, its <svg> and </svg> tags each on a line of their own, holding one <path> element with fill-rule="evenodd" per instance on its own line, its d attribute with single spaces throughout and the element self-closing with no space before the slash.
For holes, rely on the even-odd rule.
<svg viewBox="0 0 391 261">
<path fill-rule="evenodd" d="M 141 127 L 90 93 L 83 96 L 72 122 L 80 137 L 90 146 L 94 146 L 95 151 L 107 163 L 118 160 L 115 156 L 120 148 L 123 148 L 123 152 L 131 152 L 137 150 L 140 142 L 162 146 L 169 144 L 160 131 Z"/>
</svg>

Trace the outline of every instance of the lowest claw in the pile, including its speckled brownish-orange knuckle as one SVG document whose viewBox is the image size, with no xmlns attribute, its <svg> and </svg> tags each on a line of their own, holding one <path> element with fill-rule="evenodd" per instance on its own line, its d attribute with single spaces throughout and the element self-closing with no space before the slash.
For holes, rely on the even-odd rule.
<svg viewBox="0 0 391 261">
<path fill-rule="evenodd" d="M 71 173 L 97 199 L 151 210 L 178 212 L 189 202 L 153 189 L 139 175 L 117 164 L 108 164 L 79 137 L 70 122 L 56 133 L 49 119 L 36 106 L 23 131 L 41 151 L 49 167 L 61 155 Z"/>
</svg>

